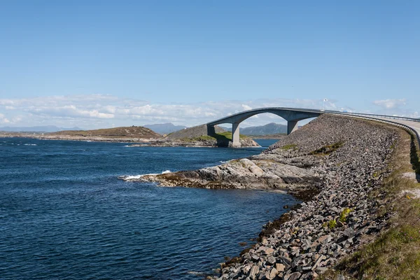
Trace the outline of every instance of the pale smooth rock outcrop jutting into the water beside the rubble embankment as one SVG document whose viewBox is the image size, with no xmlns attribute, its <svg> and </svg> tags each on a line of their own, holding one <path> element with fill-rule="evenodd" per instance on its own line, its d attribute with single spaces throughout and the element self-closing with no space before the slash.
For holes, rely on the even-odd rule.
<svg viewBox="0 0 420 280">
<path fill-rule="evenodd" d="M 305 162 L 307 165 L 311 163 Z M 160 186 L 193 188 L 246 188 L 258 190 L 295 190 L 318 187 L 318 173 L 273 160 L 232 160 L 224 165 L 195 171 L 145 175 L 143 181 L 158 182 Z"/>
</svg>

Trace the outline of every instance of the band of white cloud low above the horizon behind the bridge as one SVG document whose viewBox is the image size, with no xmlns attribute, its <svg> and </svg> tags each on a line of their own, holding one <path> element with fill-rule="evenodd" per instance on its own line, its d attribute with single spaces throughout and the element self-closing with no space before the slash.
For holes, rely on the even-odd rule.
<svg viewBox="0 0 420 280">
<path fill-rule="evenodd" d="M 325 109 L 339 108 L 335 102 L 328 99 Z M 15 126 L 77 126 L 85 129 L 152 123 L 193 126 L 229 116 L 233 112 L 276 106 L 322 109 L 323 99 L 221 100 L 191 104 L 158 104 L 102 94 L 0 99 L 0 123 Z M 410 112 L 403 113 L 407 115 Z M 248 118 L 241 127 L 273 122 L 286 123 L 279 116 L 265 113 Z"/>
</svg>

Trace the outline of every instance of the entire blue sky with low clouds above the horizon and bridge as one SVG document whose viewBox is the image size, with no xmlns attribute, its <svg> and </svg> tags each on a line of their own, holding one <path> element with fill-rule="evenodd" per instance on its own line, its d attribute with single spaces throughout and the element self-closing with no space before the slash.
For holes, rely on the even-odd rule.
<svg viewBox="0 0 420 280">
<path fill-rule="evenodd" d="M 0 0 L 0 126 L 419 117 L 419 1 L 260 2 Z"/>
</svg>

